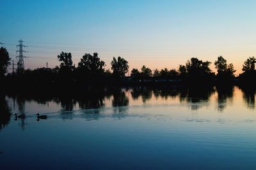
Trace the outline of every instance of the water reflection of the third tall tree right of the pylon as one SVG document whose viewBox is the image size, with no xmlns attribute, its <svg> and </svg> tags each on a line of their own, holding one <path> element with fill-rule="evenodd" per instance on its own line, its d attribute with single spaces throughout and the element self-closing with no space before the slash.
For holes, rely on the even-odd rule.
<svg viewBox="0 0 256 170">
<path fill-rule="evenodd" d="M 116 89 L 113 91 L 113 100 L 112 105 L 114 107 L 114 112 L 117 112 L 116 108 L 118 109 L 118 112 L 125 112 L 127 110 L 127 106 L 129 104 L 129 98 L 125 95 L 125 91 L 122 91 L 122 89 Z"/>
</svg>

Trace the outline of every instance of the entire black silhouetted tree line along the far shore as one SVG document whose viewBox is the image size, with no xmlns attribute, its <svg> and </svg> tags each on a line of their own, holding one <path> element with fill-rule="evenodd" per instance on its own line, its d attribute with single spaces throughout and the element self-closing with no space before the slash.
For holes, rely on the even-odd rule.
<svg viewBox="0 0 256 170">
<path fill-rule="evenodd" d="M 86 53 L 80 59 L 77 67 L 72 61 L 70 52 L 61 52 L 57 59 L 60 62 L 55 68 L 36 68 L 34 70 L 17 70 L 15 73 L 7 73 L 10 66 L 8 51 L 0 49 L 0 79 L 7 83 L 26 82 L 31 84 L 104 84 L 109 82 L 141 82 L 141 81 L 170 81 L 186 82 L 188 84 L 232 84 L 235 81 L 239 84 L 255 85 L 256 59 L 250 57 L 243 63 L 243 73 L 235 77 L 234 65 L 227 63 L 223 56 L 218 57 L 214 62 L 217 73 L 210 69 L 210 61 L 202 61 L 198 58 L 191 58 L 185 65 L 179 65 L 178 69 L 163 68 L 151 70 L 143 65 L 140 70 L 133 68 L 128 77 L 128 61 L 120 56 L 111 61 L 111 70 L 106 70 L 106 63 L 100 59 L 97 52 Z M 6 74 L 7 73 L 7 74 Z"/>
</svg>

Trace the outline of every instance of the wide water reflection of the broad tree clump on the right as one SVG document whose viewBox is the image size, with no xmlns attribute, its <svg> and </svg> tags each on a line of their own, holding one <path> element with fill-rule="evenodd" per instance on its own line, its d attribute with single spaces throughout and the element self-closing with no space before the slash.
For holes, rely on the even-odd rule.
<svg viewBox="0 0 256 170">
<path fill-rule="evenodd" d="M 214 88 L 184 88 L 180 91 L 180 102 L 191 104 L 192 110 L 198 110 L 204 105 L 208 105 L 209 98 L 214 93 Z"/>
</svg>

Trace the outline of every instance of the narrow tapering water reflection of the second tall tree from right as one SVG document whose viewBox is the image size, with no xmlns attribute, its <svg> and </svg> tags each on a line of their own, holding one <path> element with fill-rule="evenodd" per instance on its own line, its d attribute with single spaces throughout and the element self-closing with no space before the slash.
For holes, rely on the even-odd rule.
<svg viewBox="0 0 256 170">
<path fill-rule="evenodd" d="M 218 111 L 222 112 L 227 107 L 227 99 L 233 98 L 234 86 L 217 86 Z"/>
</svg>

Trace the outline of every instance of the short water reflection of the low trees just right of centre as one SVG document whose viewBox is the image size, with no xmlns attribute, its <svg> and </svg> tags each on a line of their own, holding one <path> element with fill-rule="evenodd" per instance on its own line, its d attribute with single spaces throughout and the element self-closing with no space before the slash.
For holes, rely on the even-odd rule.
<svg viewBox="0 0 256 170">
<path fill-rule="evenodd" d="M 152 98 L 152 88 L 138 86 L 132 88 L 131 95 L 134 100 L 137 100 L 141 96 L 143 103 L 145 103 Z"/>
</svg>

